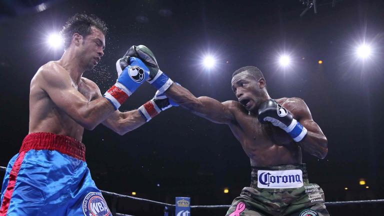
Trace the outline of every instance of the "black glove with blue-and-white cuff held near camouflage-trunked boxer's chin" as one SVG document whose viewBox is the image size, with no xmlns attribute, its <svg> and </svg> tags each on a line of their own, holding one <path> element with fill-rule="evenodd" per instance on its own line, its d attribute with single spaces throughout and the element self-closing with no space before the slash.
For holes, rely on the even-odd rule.
<svg viewBox="0 0 384 216">
<path fill-rule="evenodd" d="M 301 141 L 307 133 L 304 126 L 293 118 L 292 114 L 272 99 L 260 104 L 258 120 L 261 123 L 271 122 L 287 132 L 295 142 Z"/>
</svg>

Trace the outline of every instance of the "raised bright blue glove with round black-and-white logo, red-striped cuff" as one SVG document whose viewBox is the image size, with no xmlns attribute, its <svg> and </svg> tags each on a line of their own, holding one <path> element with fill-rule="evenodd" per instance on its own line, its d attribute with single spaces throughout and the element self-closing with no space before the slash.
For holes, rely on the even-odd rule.
<svg viewBox="0 0 384 216">
<path fill-rule="evenodd" d="M 124 56 L 116 62 L 117 81 L 105 93 L 104 97 L 112 103 L 114 109 L 120 105 L 149 77 L 149 69 L 138 58 Z"/>
</svg>

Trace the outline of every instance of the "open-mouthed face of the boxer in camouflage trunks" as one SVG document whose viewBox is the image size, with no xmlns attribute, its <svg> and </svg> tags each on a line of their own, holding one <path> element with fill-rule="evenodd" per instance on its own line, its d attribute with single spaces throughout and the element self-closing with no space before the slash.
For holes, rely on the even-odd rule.
<svg viewBox="0 0 384 216">
<path fill-rule="evenodd" d="M 247 71 L 237 73 L 232 78 L 232 91 L 238 102 L 248 111 L 257 111 L 259 105 L 265 100 L 265 80 L 255 80 Z"/>
</svg>

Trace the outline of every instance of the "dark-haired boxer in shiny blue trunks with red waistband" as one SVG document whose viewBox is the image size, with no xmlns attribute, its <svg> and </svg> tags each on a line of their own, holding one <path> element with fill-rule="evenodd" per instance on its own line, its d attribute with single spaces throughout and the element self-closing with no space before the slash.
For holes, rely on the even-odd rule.
<svg viewBox="0 0 384 216">
<path fill-rule="evenodd" d="M 95 16 L 74 15 L 61 31 L 65 40 L 61 58 L 42 65 L 33 76 L 29 132 L 8 163 L 0 216 L 111 215 L 90 176 L 82 134 L 84 128 L 92 130 L 99 123 L 119 134 L 145 123 L 148 119 L 140 111 L 145 108 L 117 109 L 156 73 L 141 60 L 123 56 L 116 62 L 116 83 L 101 95 L 98 86 L 82 74 L 104 55 L 106 30 Z M 165 86 L 158 80 L 156 86 L 165 90 L 169 80 Z M 157 93 L 146 103 L 151 117 L 169 107 L 168 99 L 161 96 Z"/>
</svg>

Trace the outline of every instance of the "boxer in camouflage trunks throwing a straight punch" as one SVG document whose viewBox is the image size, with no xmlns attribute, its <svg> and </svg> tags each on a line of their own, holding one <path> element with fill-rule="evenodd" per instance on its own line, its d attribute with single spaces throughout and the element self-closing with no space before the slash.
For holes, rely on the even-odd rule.
<svg viewBox="0 0 384 216">
<path fill-rule="evenodd" d="M 128 52 L 149 69 L 158 65 L 145 46 Z M 132 51 L 133 50 L 133 51 Z M 245 66 L 233 72 L 231 87 L 238 101 L 195 97 L 172 84 L 164 94 L 196 115 L 227 124 L 250 159 L 251 182 L 227 211 L 233 215 L 329 215 L 322 189 L 309 183 L 302 151 L 318 158 L 327 154 L 327 139 L 297 97 L 271 99 L 261 71 Z"/>
</svg>

